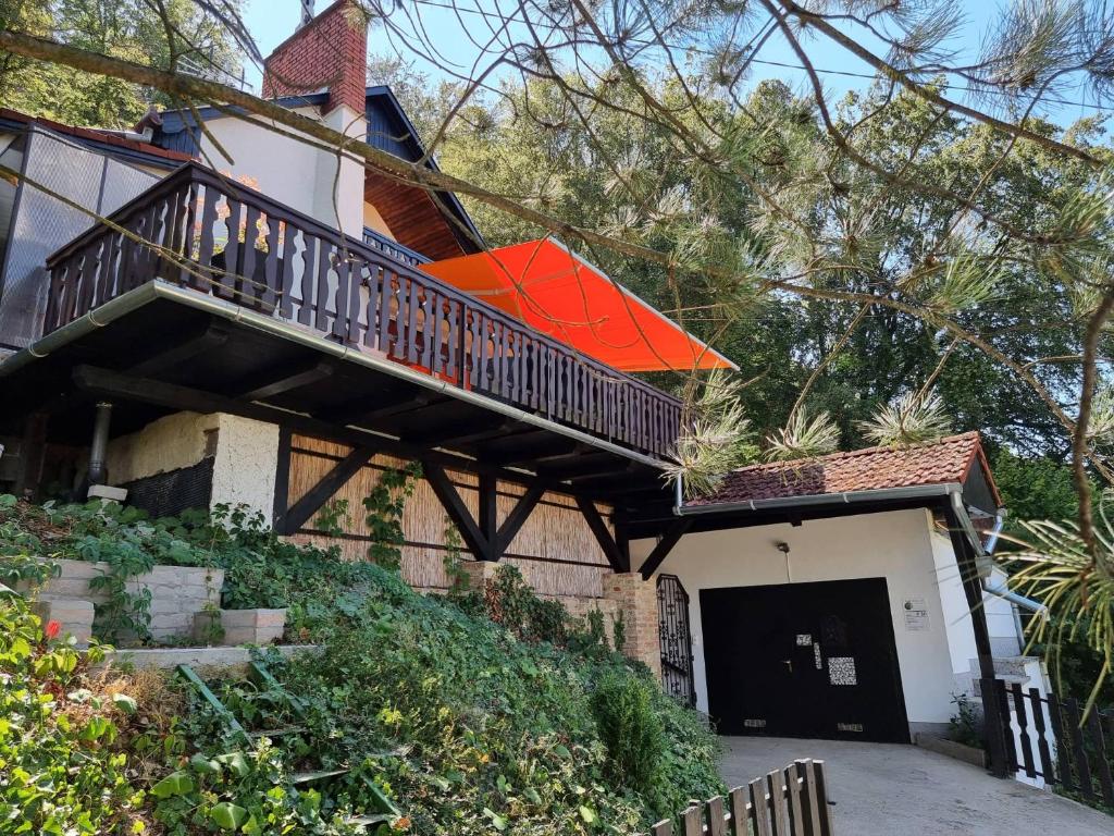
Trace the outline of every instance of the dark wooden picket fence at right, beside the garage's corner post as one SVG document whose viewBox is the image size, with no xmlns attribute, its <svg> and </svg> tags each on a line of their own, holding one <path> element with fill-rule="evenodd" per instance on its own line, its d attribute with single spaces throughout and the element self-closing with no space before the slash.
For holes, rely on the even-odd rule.
<svg viewBox="0 0 1114 836">
<path fill-rule="evenodd" d="M 1017 682 L 980 680 L 984 700 L 994 694 L 1003 718 L 1009 771 L 1040 778 L 1078 793 L 1087 801 L 1114 807 L 1114 709 L 1093 709 L 1086 719 L 1072 697 Z M 1010 723 L 1017 725 L 1017 731 Z"/>
</svg>

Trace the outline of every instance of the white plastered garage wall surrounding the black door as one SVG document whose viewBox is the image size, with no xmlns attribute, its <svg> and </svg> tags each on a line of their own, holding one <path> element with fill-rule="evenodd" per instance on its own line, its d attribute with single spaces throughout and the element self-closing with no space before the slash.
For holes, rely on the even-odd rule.
<svg viewBox="0 0 1114 836">
<path fill-rule="evenodd" d="M 910 723 L 946 723 L 955 710 L 952 694 L 960 688 L 952 675 L 949 649 L 949 614 L 959 607 L 966 612 L 962 589 L 946 583 L 947 609 L 941 603 L 938 579 L 955 580 L 955 560 L 946 564 L 931 543 L 927 511 L 896 511 L 881 514 L 805 521 L 799 527 L 789 524 L 722 532 L 687 534 L 673 548 L 658 570 L 677 575 L 691 600 L 693 661 L 697 707 L 707 711 L 704 678 L 704 647 L 700 612 L 700 591 L 729 586 L 753 586 L 790 582 L 838 581 L 857 577 L 885 577 L 890 596 L 890 613 L 897 642 L 906 710 Z M 790 546 L 786 558 L 775 544 Z M 654 541 L 631 544 L 635 565 L 649 554 Z M 958 599 L 956 599 L 958 593 Z M 929 629 L 906 629 L 903 603 L 924 599 L 929 612 Z M 968 614 L 968 621 L 969 621 Z M 968 624 L 969 626 L 969 624 Z M 961 630 L 957 625 L 958 631 Z M 974 648 L 974 639 L 970 642 Z M 957 641 L 957 651 L 967 648 Z M 957 660 L 961 670 L 974 654 Z M 761 688 L 755 682 L 755 688 Z"/>
</svg>

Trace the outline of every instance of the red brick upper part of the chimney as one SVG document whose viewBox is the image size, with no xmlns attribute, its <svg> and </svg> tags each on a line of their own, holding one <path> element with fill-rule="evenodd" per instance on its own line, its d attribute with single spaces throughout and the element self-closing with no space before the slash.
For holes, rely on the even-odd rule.
<svg viewBox="0 0 1114 836">
<path fill-rule="evenodd" d="M 263 97 L 297 96 L 329 88 L 324 113 L 340 105 L 364 110 L 368 17 L 353 0 L 336 0 L 316 17 L 302 3 L 303 20 L 264 62 Z"/>
</svg>

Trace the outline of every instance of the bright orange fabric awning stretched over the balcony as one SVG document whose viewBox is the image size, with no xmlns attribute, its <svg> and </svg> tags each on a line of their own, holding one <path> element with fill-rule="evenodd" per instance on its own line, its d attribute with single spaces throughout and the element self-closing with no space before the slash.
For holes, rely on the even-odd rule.
<svg viewBox="0 0 1114 836">
<path fill-rule="evenodd" d="M 553 239 L 421 269 L 622 371 L 739 368 Z"/>
</svg>

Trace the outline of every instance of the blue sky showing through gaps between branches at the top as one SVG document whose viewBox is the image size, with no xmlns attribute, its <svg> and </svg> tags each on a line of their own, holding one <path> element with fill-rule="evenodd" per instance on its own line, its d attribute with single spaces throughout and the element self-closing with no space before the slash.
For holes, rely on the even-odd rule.
<svg viewBox="0 0 1114 836">
<path fill-rule="evenodd" d="M 466 3 L 485 3 L 486 1 L 463 0 Z M 317 11 L 326 8 L 330 0 L 317 0 Z M 441 3 L 448 2 L 450 0 L 428 0 L 426 3 L 419 0 L 422 25 L 426 27 L 430 40 L 437 43 L 450 59 L 455 59 L 462 65 L 470 65 L 475 57 L 475 47 L 468 42 L 467 38 L 461 37 L 460 25 L 456 16 L 441 6 Z M 964 3 L 965 25 L 958 37 L 948 46 L 956 50 L 960 58 L 973 58 L 978 51 L 987 26 L 995 19 L 998 10 L 1005 2 L 1006 0 L 998 0 L 997 2 L 994 0 L 967 0 Z M 268 55 L 275 46 L 293 33 L 294 27 L 297 23 L 300 9 L 301 3 L 299 0 L 246 0 L 244 21 L 264 56 Z M 469 23 L 469 29 L 477 36 L 483 33 L 481 26 L 483 21 L 480 16 L 473 13 L 472 16 L 463 16 L 463 18 L 466 23 Z M 475 21 L 475 28 L 470 25 L 470 21 Z M 868 42 L 867 46 L 871 45 Z M 369 37 L 369 47 L 372 52 L 377 54 L 388 54 L 391 51 L 390 43 L 382 28 L 372 28 Z M 821 76 L 829 91 L 839 94 L 849 89 L 860 89 L 868 84 L 867 79 L 856 75 L 843 75 L 863 74 L 869 76 L 870 68 L 828 39 L 817 37 L 808 43 L 807 49 L 813 65 L 820 70 L 827 70 Z M 407 56 L 407 58 L 412 57 Z M 775 64 L 756 66 L 752 74 L 752 82 L 766 78 L 780 78 L 802 93 L 811 90 L 801 70 L 776 66 L 776 64 L 798 64 L 797 56 L 783 40 L 771 39 L 762 49 L 759 57 L 762 60 Z M 423 66 L 420 61 L 418 62 L 418 68 L 430 72 L 434 77 L 438 75 L 436 68 Z M 247 68 L 247 80 L 258 90 L 260 72 L 257 69 Z M 965 98 L 962 90 L 952 90 L 949 95 L 957 99 Z M 1073 103 L 1083 103 L 1086 97 L 1082 91 L 1073 91 L 1065 94 L 1064 98 Z M 1081 116 L 1093 116 L 1095 113 L 1096 110 L 1093 107 L 1079 104 L 1055 105 L 1049 108 L 1047 116 L 1061 124 L 1068 124 Z"/>
</svg>

